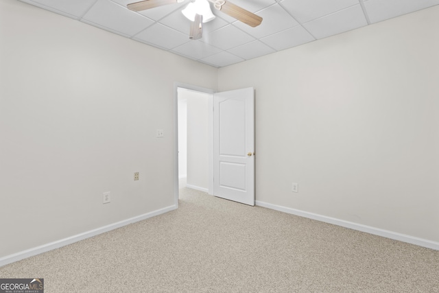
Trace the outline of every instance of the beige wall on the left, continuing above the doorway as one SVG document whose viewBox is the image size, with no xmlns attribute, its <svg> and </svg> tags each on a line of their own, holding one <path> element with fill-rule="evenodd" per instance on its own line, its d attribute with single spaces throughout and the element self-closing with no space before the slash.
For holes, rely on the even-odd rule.
<svg viewBox="0 0 439 293">
<path fill-rule="evenodd" d="M 0 41 L 0 257 L 174 205 L 174 82 L 217 69 L 14 0 Z"/>
</svg>

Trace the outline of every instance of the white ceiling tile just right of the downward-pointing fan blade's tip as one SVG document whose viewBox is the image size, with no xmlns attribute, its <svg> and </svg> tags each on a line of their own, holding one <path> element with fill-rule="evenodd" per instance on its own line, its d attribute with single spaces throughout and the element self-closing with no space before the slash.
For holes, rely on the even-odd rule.
<svg viewBox="0 0 439 293">
<path fill-rule="evenodd" d="M 254 38 L 233 25 L 226 25 L 219 30 L 203 34 L 202 38 L 203 42 L 209 42 L 209 44 L 223 50 L 244 45 L 252 40 L 254 40 Z"/>
</svg>

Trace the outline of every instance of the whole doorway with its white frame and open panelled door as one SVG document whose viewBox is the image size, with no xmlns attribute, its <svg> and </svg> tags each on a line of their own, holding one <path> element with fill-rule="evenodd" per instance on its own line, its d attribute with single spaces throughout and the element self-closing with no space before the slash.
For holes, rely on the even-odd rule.
<svg viewBox="0 0 439 293">
<path fill-rule="evenodd" d="M 214 94 L 177 84 L 174 103 L 176 207 L 179 181 L 186 187 L 253 206 L 254 88 Z"/>
</svg>

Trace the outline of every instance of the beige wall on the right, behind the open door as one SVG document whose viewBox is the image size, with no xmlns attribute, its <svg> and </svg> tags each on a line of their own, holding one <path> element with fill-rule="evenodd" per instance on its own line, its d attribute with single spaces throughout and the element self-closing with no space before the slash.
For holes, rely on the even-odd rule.
<svg viewBox="0 0 439 293">
<path fill-rule="evenodd" d="M 256 199 L 438 242 L 438 32 L 436 6 L 219 69 L 256 89 Z"/>
</svg>

